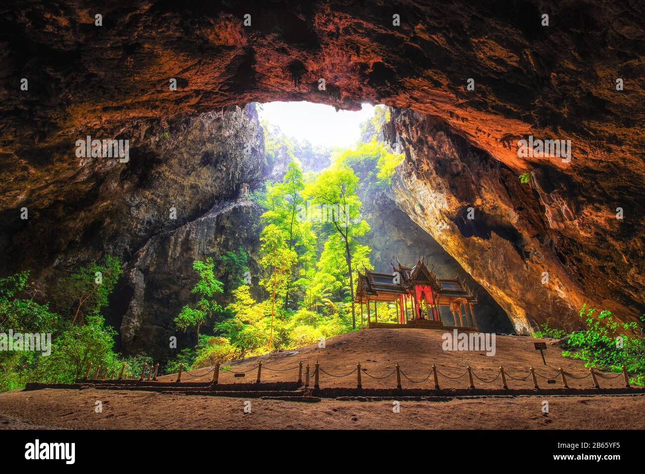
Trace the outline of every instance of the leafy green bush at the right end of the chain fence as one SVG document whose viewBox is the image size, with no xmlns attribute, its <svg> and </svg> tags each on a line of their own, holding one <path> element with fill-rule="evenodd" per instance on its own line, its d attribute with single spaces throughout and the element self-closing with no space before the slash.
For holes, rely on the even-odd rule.
<svg viewBox="0 0 645 474">
<path fill-rule="evenodd" d="M 587 367 L 613 372 L 619 372 L 624 365 L 634 374 L 631 383 L 645 385 L 645 345 L 637 323 L 615 321 L 611 311 L 597 312 L 586 304 L 580 316 L 587 327 L 570 335 L 571 350 L 563 351 L 562 355 L 584 360 Z"/>
</svg>

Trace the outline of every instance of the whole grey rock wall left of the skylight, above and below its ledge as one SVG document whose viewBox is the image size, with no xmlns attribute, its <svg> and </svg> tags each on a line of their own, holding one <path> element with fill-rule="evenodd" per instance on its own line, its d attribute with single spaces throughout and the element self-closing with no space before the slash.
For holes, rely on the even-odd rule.
<svg viewBox="0 0 645 474">
<path fill-rule="evenodd" d="M 118 255 L 125 272 L 106 320 L 120 329 L 120 350 L 164 360 L 170 335 L 179 347 L 194 342 L 173 322 L 192 301 L 194 259 L 242 247 L 257 279 L 261 212 L 244 195 L 263 181 L 263 132 L 249 105 L 143 121 L 123 133 L 135 137 L 130 162 L 81 159 L 55 186 L 26 189 L 29 218 L 12 216 L 2 230 L 12 254 L 3 273 L 30 269 L 48 282 Z"/>
</svg>

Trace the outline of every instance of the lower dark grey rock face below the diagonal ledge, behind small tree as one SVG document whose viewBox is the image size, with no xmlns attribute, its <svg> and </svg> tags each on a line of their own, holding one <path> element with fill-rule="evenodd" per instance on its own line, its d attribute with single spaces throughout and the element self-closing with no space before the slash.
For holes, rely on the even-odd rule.
<svg viewBox="0 0 645 474">
<path fill-rule="evenodd" d="M 177 337 L 179 348 L 196 344 L 194 331 L 178 332 L 173 322 L 184 304 L 195 299 L 190 293 L 197 282 L 197 275 L 192 272 L 194 260 L 206 257 L 217 260 L 226 250 L 241 247 L 252 257 L 249 273 L 257 287 L 260 269 L 253 257 L 259 252 L 262 212 L 246 198 L 223 202 L 199 219 L 159 233 L 146 242 L 128 263 L 120 290 L 123 297 L 130 296 L 123 321 L 117 322 L 124 350 L 166 360 L 176 355 L 176 350 L 170 348 L 171 336 Z M 230 271 L 217 264 L 215 277 L 223 281 Z M 231 295 L 226 291 L 218 300 L 224 306 Z M 208 321 L 204 328 L 212 323 Z"/>
</svg>

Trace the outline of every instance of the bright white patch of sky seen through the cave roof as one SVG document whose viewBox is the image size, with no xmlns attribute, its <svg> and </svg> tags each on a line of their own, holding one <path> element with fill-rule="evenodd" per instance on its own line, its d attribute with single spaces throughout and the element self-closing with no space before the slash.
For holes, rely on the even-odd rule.
<svg viewBox="0 0 645 474">
<path fill-rule="evenodd" d="M 362 110 L 339 110 L 330 105 L 310 102 L 269 102 L 261 104 L 260 119 L 266 120 L 288 137 L 308 140 L 323 146 L 353 146 L 361 137 L 359 125 L 372 117 L 374 106 L 362 104 Z"/>
</svg>

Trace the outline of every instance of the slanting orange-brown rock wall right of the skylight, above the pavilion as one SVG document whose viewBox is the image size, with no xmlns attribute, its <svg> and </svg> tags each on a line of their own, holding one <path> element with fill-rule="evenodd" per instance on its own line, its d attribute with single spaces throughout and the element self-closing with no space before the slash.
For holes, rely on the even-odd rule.
<svg viewBox="0 0 645 474">
<path fill-rule="evenodd" d="M 393 110 L 388 127 L 406 150 L 395 200 L 486 288 L 517 331 L 549 317 L 573 328 L 585 302 L 623 318 L 642 311 L 639 246 L 631 246 L 631 263 L 610 261 L 619 224 L 606 215 L 617 231 L 611 239 L 582 225 L 594 190 L 545 165 L 522 184 L 508 166 L 426 115 Z"/>
</svg>

